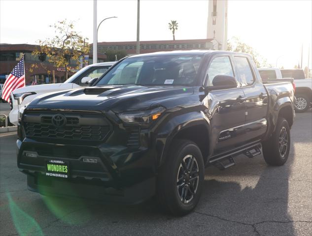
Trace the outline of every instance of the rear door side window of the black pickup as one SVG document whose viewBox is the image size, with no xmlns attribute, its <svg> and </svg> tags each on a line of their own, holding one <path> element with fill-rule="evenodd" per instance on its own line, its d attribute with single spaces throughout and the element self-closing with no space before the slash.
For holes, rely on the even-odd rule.
<svg viewBox="0 0 312 236">
<path fill-rule="evenodd" d="M 252 85 L 254 82 L 253 74 L 249 65 L 249 61 L 244 57 L 234 57 L 238 76 L 241 79 L 242 86 Z"/>
</svg>

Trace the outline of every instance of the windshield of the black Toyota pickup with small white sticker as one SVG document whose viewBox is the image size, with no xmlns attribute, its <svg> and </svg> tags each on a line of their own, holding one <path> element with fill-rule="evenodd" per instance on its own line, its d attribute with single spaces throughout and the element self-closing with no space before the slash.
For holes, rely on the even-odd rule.
<svg viewBox="0 0 312 236">
<path fill-rule="evenodd" d="M 201 61 L 201 55 L 127 58 L 106 73 L 96 86 L 191 86 L 196 81 Z"/>
</svg>

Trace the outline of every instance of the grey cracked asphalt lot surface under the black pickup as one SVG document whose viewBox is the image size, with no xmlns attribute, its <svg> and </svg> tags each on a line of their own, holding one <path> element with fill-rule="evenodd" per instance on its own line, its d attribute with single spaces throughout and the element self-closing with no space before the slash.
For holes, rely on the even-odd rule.
<svg viewBox="0 0 312 236">
<path fill-rule="evenodd" d="M 297 114 L 282 167 L 239 156 L 225 171 L 206 169 L 205 190 L 184 217 L 154 202 L 135 206 L 42 197 L 16 167 L 16 134 L 0 136 L 0 235 L 312 235 L 312 113 Z"/>
</svg>

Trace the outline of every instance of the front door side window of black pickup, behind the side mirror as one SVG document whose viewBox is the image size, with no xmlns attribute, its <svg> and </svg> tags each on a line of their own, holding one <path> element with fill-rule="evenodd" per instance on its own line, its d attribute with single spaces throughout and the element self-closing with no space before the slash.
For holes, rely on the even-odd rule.
<svg viewBox="0 0 312 236">
<path fill-rule="evenodd" d="M 233 68 L 229 57 L 217 57 L 213 59 L 208 68 L 207 86 L 213 86 L 212 81 L 217 75 L 233 76 Z"/>
</svg>

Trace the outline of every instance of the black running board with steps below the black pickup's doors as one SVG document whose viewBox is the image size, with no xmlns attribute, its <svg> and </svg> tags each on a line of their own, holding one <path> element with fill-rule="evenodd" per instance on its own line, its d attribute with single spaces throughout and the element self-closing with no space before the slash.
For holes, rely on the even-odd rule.
<svg viewBox="0 0 312 236">
<path fill-rule="evenodd" d="M 211 159 L 209 160 L 209 164 L 214 165 L 220 170 L 225 170 L 235 165 L 234 156 L 244 154 L 245 156 L 252 158 L 260 155 L 261 153 L 261 143 L 256 143 L 252 146 L 248 146 L 240 150 L 236 150 L 225 155 L 218 156 L 217 158 Z"/>
</svg>

